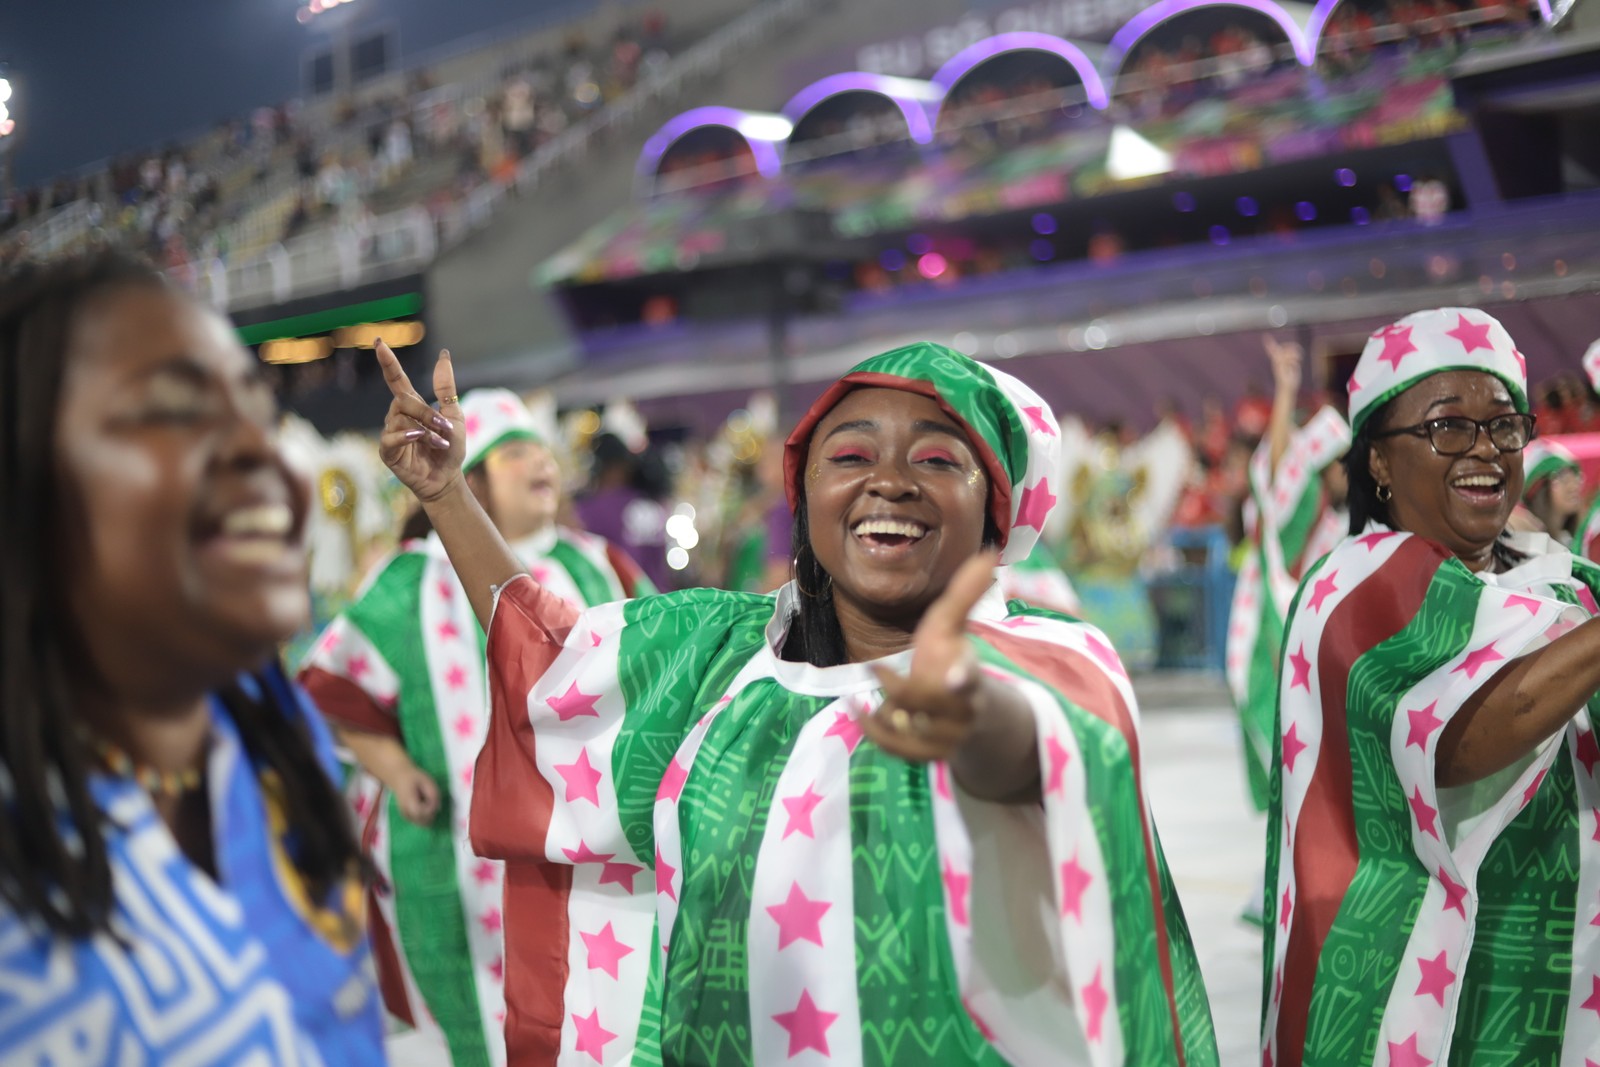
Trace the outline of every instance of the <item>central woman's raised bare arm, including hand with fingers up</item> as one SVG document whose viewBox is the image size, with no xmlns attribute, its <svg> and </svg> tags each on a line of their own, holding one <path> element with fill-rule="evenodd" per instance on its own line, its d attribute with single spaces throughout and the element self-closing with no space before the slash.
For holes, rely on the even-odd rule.
<svg viewBox="0 0 1600 1067">
<path fill-rule="evenodd" d="M 445 544 L 450 565 L 467 589 L 478 625 L 488 630 L 490 616 L 494 614 L 494 589 L 522 574 L 523 566 L 461 474 L 467 434 L 450 352 L 440 352 L 434 365 L 437 411 L 413 389 L 387 344 L 379 341 L 376 352 L 394 395 L 378 454 L 422 504 Z"/>
</svg>

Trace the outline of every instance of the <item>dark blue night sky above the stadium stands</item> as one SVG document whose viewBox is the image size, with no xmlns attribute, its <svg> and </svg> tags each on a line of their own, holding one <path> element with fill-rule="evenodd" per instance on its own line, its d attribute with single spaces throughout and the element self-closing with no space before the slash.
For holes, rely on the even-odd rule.
<svg viewBox="0 0 1600 1067">
<path fill-rule="evenodd" d="M 496 29 L 533 27 L 597 0 L 354 0 L 392 27 L 406 64 Z M 50 179 L 155 147 L 301 93 L 326 32 L 298 0 L 0 0 L 0 62 L 16 85 L 13 176 Z M 331 18 L 331 16 L 328 16 Z"/>
</svg>

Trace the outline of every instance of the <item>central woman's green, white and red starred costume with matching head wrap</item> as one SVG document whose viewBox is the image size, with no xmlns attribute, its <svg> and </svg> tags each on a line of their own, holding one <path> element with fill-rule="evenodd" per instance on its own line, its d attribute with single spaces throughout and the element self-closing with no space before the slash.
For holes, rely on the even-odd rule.
<svg viewBox="0 0 1600 1067">
<path fill-rule="evenodd" d="M 938 346 L 877 357 L 802 421 L 790 485 L 856 386 L 934 397 L 992 472 L 1005 552 L 1027 553 L 1058 470 L 1030 390 Z M 1104 637 L 997 592 L 974 609 L 974 651 L 1038 731 L 1043 803 L 1006 806 L 864 741 L 870 665 L 776 651 L 798 601 L 579 614 L 501 590 L 472 841 L 507 861 L 512 1061 L 1216 1064 Z"/>
</svg>

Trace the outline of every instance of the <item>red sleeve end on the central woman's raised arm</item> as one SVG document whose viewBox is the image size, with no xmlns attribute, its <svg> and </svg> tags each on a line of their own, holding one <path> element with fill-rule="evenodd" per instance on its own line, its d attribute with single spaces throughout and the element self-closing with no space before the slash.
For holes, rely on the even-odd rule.
<svg viewBox="0 0 1600 1067">
<path fill-rule="evenodd" d="M 490 731 L 472 771 L 472 851 L 544 859 L 554 798 L 534 761 L 528 694 L 562 653 L 578 609 L 526 574 L 507 582 L 490 619 Z"/>
</svg>

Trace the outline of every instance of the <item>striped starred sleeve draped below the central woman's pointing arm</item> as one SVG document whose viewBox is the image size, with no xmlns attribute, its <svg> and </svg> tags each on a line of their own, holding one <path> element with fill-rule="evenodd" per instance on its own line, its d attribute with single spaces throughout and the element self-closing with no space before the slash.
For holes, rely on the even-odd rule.
<svg viewBox="0 0 1600 1067">
<path fill-rule="evenodd" d="M 1056 1064 L 1069 1048 L 1094 1067 L 1216 1064 L 1122 662 L 1099 630 L 1045 613 L 982 625 L 979 641 L 986 670 L 1034 712 L 1043 805 L 978 801 L 930 768 L 968 1011 L 1014 1064 Z"/>
</svg>

